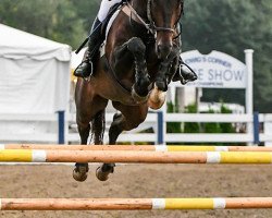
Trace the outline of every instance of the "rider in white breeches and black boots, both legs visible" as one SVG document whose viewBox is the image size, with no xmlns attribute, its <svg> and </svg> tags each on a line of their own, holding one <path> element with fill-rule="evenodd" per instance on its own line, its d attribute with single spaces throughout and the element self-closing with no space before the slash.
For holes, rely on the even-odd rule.
<svg viewBox="0 0 272 218">
<path fill-rule="evenodd" d="M 121 3 L 123 1 L 125 0 L 102 0 L 98 15 L 90 29 L 90 36 L 88 38 L 88 48 L 85 59 L 74 71 L 75 76 L 88 77 L 89 75 L 92 74 L 94 71 L 92 59 L 96 56 L 97 51 L 99 50 L 100 45 L 104 40 L 104 35 L 102 34 L 102 22 L 107 19 L 110 9 L 113 5 Z M 186 66 L 184 65 L 182 59 L 180 59 L 178 70 L 180 72 L 175 74 L 173 81 L 181 81 L 181 83 L 185 84 L 188 81 L 195 81 L 197 78 L 195 72 L 187 65 Z"/>
</svg>

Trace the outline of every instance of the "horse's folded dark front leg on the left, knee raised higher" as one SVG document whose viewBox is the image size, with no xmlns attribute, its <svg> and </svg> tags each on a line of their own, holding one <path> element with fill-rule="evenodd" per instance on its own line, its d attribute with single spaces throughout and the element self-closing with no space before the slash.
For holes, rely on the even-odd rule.
<svg viewBox="0 0 272 218">
<path fill-rule="evenodd" d="M 124 56 L 133 56 L 135 68 L 135 83 L 132 87 L 132 96 L 137 102 L 147 100 L 149 85 L 151 84 L 146 62 L 146 46 L 140 38 L 133 37 L 115 50 L 115 63 L 122 60 Z"/>
</svg>

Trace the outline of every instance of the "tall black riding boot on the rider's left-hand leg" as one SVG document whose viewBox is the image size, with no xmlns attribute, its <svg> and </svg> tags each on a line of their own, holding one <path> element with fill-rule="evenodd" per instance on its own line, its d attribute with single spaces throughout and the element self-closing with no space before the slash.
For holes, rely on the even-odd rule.
<svg viewBox="0 0 272 218">
<path fill-rule="evenodd" d="M 86 51 L 85 59 L 83 62 L 75 69 L 74 75 L 78 77 L 88 77 L 94 73 L 94 63 L 92 59 L 96 56 L 97 51 L 99 50 L 99 47 L 101 46 L 101 43 L 103 41 L 102 36 L 102 25 L 101 22 L 96 19 L 91 31 L 91 36 L 88 40 L 88 48 Z"/>
</svg>

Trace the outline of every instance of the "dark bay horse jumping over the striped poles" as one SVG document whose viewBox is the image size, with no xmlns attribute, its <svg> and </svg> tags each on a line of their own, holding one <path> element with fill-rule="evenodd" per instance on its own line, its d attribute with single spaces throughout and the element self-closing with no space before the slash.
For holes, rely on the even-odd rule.
<svg viewBox="0 0 272 218">
<path fill-rule="evenodd" d="M 76 122 L 81 144 L 87 144 L 91 131 L 96 145 L 103 144 L 104 111 L 108 101 L 120 112 L 109 130 L 114 145 L 122 131 L 145 121 L 148 108 L 160 108 L 178 64 L 176 32 L 183 13 L 183 0 L 129 0 L 121 7 L 106 40 L 106 55 L 97 57 L 95 75 L 78 78 L 75 90 Z M 114 164 L 97 169 L 101 181 L 112 173 Z M 73 177 L 87 178 L 88 165 L 76 164 Z"/>
</svg>

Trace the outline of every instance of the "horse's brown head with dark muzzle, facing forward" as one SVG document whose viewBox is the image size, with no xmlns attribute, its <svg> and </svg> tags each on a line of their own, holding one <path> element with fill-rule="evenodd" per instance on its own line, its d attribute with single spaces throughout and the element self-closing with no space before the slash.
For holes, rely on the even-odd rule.
<svg viewBox="0 0 272 218">
<path fill-rule="evenodd" d="M 184 0 L 148 0 L 147 14 L 156 35 L 158 58 L 165 59 L 173 48 L 176 25 Z"/>
</svg>

